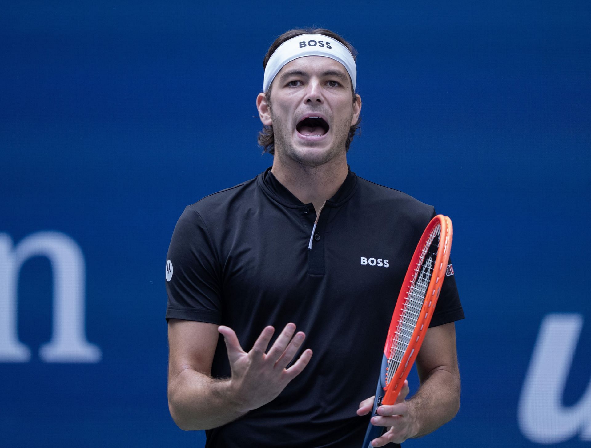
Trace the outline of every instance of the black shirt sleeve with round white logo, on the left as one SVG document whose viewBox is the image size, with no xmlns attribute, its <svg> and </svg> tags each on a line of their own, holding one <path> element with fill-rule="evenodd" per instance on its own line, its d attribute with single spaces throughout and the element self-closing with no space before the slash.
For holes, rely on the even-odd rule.
<svg viewBox="0 0 591 448">
<path fill-rule="evenodd" d="M 178 218 L 166 261 L 166 319 L 219 324 L 221 269 L 203 218 L 186 207 Z"/>
</svg>

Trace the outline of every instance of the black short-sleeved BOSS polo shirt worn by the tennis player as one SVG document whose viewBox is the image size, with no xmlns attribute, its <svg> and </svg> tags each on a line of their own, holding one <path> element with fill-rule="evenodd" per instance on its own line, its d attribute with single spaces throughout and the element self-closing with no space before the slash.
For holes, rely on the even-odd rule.
<svg viewBox="0 0 591 448">
<path fill-rule="evenodd" d="M 294 322 L 306 333 L 302 350 L 313 350 L 275 400 L 206 431 L 206 447 L 361 446 L 369 416 L 356 410 L 375 392 L 398 292 L 434 215 L 350 171 L 314 233 L 313 205 L 270 169 L 186 207 L 168 249 L 166 318 L 229 326 L 245 351 L 265 326 L 277 336 Z M 463 317 L 447 276 L 431 326 Z M 221 337 L 212 375 L 230 377 Z"/>
</svg>

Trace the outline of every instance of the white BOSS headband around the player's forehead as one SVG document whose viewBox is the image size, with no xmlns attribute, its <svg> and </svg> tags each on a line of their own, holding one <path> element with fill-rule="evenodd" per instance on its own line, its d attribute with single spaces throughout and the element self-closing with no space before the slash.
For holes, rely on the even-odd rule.
<svg viewBox="0 0 591 448">
<path fill-rule="evenodd" d="M 271 55 L 265 68 L 262 91 L 266 92 L 277 73 L 288 62 L 304 56 L 324 56 L 345 66 L 353 83 L 357 81 L 357 67 L 353 55 L 345 45 L 323 34 L 301 34 L 283 42 Z"/>
</svg>

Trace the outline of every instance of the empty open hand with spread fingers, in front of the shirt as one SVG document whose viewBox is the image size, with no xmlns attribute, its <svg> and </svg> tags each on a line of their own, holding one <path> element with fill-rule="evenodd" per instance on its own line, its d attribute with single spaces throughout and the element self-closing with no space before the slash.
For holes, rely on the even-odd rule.
<svg viewBox="0 0 591 448">
<path fill-rule="evenodd" d="M 236 333 L 231 328 L 222 325 L 217 331 L 224 336 L 228 349 L 232 369 L 232 396 L 245 411 L 259 408 L 274 400 L 285 386 L 304 370 L 312 357 L 312 351 L 306 349 L 290 368 L 286 368 L 306 338 L 301 331 L 294 335 L 294 323 L 285 325 L 268 353 L 265 351 L 275 332 L 272 326 L 263 329 L 249 352 L 243 351 Z"/>
</svg>

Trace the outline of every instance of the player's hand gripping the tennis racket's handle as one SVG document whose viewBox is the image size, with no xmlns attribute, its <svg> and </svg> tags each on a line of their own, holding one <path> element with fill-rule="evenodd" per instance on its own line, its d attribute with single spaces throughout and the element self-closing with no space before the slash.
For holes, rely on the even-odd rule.
<svg viewBox="0 0 591 448">
<path fill-rule="evenodd" d="M 384 446 L 388 443 L 402 443 L 417 434 L 416 419 L 411 412 L 405 398 L 409 392 L 408 381 L 404 381 L 404 387 L 395 404 L 382 404 L 378 407 L 378 416 L 371 418 L 374 426 L 386 426 L 388 430 L 381 436 L 372 440 L 372 446 Z M 374 397 L 367 398 L 359 403 L 358 416 L 365 416 L 374 407 Z"/>
</svg>

